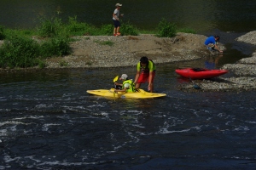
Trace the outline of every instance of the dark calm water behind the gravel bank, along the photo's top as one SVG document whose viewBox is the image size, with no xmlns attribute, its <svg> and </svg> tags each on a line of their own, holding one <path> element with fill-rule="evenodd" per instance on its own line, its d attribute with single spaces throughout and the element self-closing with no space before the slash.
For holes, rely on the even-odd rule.
<svg viewBox="0 0 256 170">
<path fill-rule="evenodd" d="M 77 16 L 80 21 L 96 26 L 112 24 L 114 1 L 103 0 L 2 0 L 0 24 L 3 26 L 34 27 L 38 16 L 58 15 L 63 20 Z M 220 31 L 253 31 L 256 20 L 256 2 L 240 0 L 211 2 L 196 1 L 135 1 L 123 0 L 124 21 L 139 28 L 155 29 L 162 18 L 179 27 L 191 27 L 199 33 Z M 143 7 L 143 8 L 142 8 Z M 150 19 L 150 20 L 149 20 Z"/>
</svg>

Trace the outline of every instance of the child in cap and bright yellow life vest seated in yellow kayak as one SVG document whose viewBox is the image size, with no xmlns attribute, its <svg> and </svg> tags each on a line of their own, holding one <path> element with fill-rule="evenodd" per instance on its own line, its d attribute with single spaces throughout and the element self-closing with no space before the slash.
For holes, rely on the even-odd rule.
<svg viewBox="0 0 256 170">
<path fill-rule="evenodd" d="M 119 80 L 123 81 L 123 83 L 119 84 L 118 82 L 114 82 L 114 84 L 116 86 L 122 86 L 122 89 L 114 89 L 115 92 L 133 93 L 136 91 L 134 83 L 132 82 L 131 79 L 128 79 L 128 76 L 126 74 L 122 74 Z"/>
</svg>

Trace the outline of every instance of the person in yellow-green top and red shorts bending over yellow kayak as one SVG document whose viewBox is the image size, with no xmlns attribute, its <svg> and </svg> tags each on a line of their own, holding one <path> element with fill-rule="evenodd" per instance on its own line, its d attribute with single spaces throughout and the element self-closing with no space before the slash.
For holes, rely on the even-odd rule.
<svg viewBox="0 0 256 170">
<path fill-rule="evenodd" d="M 148 91 L 154 91 L 154 75 L 155 65 L 154 62 L 147 57 L 143 56 L 140 62 L 137 63 L 137 74 L 134 80 L 135 88 L 141 87 L 141 83 L 148 82 Z"/>
</svg>

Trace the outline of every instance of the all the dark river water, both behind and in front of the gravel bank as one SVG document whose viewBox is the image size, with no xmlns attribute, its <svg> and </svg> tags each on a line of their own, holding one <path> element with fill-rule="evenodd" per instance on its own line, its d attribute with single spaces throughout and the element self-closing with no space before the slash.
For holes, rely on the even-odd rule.
<svg viewBox="0 0 256 170">
<path fill-rule="evenodd" d="M 169 14 L 176 20 L 180 17 L 186 26 L 199 20 L 208 22 L 201 32 L 218 32 L 227 48 L 214 58 L 218 58 L 216 68 L 235 63 L 255 50 L 234 41 L 255 28 L 254 1 L 157 2 L 123 1 L 122 9 L 138 26 L 149 26 L 152 21 L 153 27 L 156 18 Z M 68 15 L 100 23 L 100 19 L 108 18 L 103 8 L 110 8 L 112 13 L 116 2 L 1 3 L 1 16 L 9 16 L 9 20 L 0 17 L 1 24 L 22 27 L 32 26 L 40 8 L 49 15 L 61 8 L 62 14 L 68 11 Z M 93 17 L 85 12 L 92 6 L 98 7 L 93 8 Z M 87 89 L 112 88 L 118 74 L 134 78 L 134 66 L 1 72 L 0 169 L 255 169 L 255 91 L 177 90 L 179 84 L 190 82 L 177 77 L 175 69 L 204 67 L 206 61 L 212 62 L 212 58 L 156 65 L 155 91 L 167 94 L 160 99 L 113 100 L 86 93 Z"/>
</svg>

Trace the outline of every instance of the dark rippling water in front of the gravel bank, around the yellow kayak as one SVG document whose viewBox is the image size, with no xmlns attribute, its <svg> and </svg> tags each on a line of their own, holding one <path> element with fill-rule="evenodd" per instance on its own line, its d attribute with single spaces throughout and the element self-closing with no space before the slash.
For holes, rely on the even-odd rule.
<svg viewBox="0 0 256 170">
<path fill-rule="evenodd" d="M 255 92 L 184 93 L 176 67 L 157 65 L 160 99 L 86 94 L 119 69 L 1 74 L 0 168 L 253 169 Z"/>
</svg>

